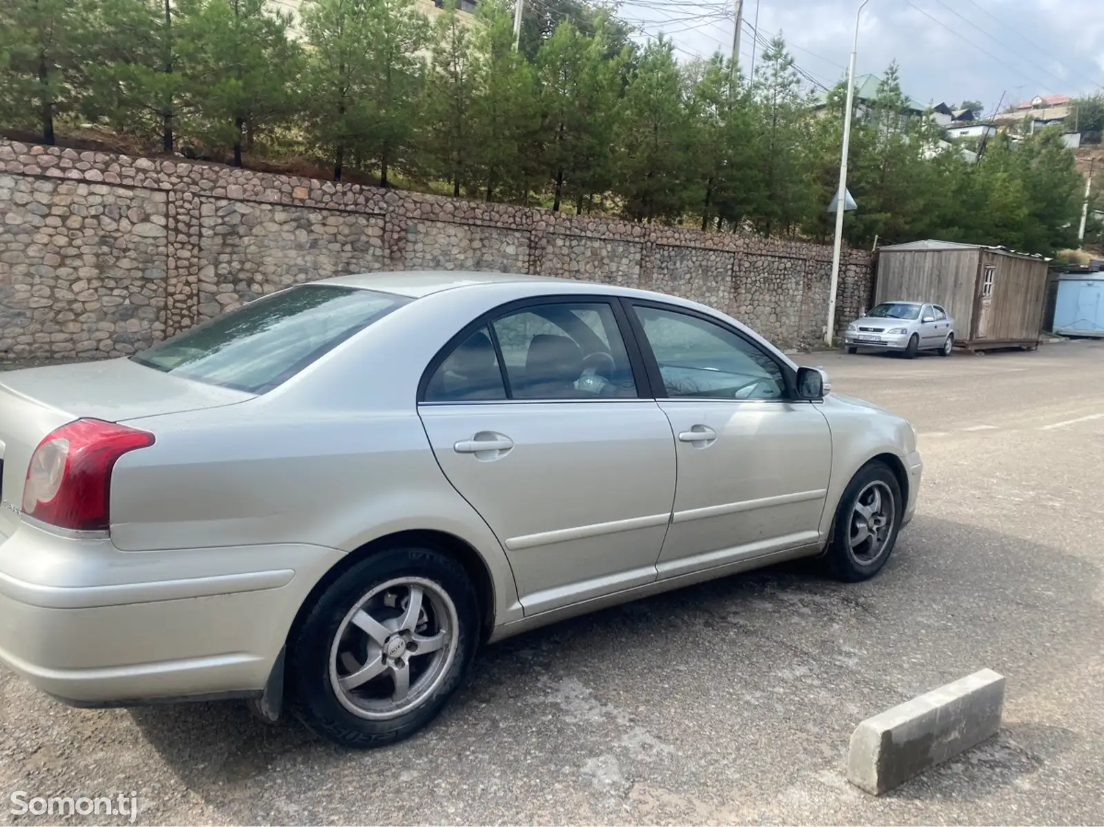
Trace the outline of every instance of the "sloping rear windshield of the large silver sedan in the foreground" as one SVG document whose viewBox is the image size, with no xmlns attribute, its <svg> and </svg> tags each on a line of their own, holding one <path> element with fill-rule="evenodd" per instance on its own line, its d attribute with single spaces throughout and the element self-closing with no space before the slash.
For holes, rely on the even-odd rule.
<svg viewBox="0 0 1104 827">
<path fill-rule="evenodd" d="M 131 359 L 208 384 L 264 393 L 411 299 L 300 285 L 251 301 Z"/>
</svg>

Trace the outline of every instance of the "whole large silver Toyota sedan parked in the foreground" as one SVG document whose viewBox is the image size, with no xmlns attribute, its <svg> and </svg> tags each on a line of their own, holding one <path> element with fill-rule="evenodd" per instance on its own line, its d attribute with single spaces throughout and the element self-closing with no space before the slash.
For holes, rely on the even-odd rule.
<svg viewBox="0 0 1104 827">
<path fill-rule="evenodd" d="M 922 467 L 907 422 L 701 305 L 434 273 L 3 374 L 0 455 L 8 666 L 350 746 L 425 725 L 481 642 L 803 555 L 870 577 Z"/>
</svg>

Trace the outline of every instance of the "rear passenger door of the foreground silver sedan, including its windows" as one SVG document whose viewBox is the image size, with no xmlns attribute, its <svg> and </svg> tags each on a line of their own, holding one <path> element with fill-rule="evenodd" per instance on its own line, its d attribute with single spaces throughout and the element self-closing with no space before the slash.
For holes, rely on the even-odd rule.
<svg viewBox="0 0 1104 827">
<path fill-rule="evenodd" d="M 496 533 L 527 615 L 650 583 L 675 500 L 675 441 L 617 303 L 511 305 L 426 370 L 442 470 Z M 639 381 L 638 381 L 639 379 Z"/>
</svg>

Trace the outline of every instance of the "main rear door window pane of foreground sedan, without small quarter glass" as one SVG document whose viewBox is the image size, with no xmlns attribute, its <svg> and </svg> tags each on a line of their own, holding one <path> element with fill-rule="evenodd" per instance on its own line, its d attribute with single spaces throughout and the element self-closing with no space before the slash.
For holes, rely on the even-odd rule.
<svg viewBox="0 0 1104 827">
<path fill-rule="evenodd" d="M 635 397 L 613 308 L 540 304 L 492 322 L 513 399 Z"/>
</svg>

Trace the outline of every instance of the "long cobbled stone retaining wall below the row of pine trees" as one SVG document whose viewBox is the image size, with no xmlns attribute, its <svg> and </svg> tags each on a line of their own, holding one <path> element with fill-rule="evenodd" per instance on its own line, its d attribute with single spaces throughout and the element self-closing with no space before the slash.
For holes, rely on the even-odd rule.
<svg viewBox="0 0 1104 827">
<path fill-rule="evenodd" d="M 290 284 L 423 268 L 671 293 L 802 347 L 831 269 L 816 244 L 3 140 L 0 216 L 0 359 L 126 356 Z M 870 287 L 846 251 L 839 327 Z"/>
</svg>

